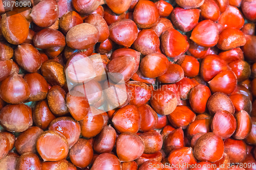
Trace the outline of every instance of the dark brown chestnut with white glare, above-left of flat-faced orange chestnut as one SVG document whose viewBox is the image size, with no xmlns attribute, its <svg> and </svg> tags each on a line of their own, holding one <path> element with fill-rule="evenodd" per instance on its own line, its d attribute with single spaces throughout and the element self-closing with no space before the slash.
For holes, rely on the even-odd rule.
<svg viewBox="0 0 256 170">
<path fill-rule="evenodd" d="M 36 103 L 33 109 L 33 121 L 37 127 L 45 130 L 55 118 L 46 100 Z"/>
</svg>

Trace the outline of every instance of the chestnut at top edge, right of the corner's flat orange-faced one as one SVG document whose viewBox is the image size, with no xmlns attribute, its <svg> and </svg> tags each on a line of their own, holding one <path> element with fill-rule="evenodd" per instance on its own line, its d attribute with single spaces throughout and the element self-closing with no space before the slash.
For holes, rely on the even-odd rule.
<svg viewBox="0 0 256 170">
<path fill-rule="evenodd" d="M 50 27 L 58 19 L 59 6 L 54 0 L 41 1 L 32 8 L 30 16 L 37 26 Z"/>
</svg>

